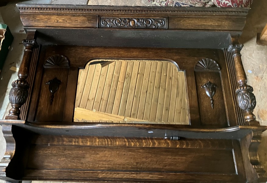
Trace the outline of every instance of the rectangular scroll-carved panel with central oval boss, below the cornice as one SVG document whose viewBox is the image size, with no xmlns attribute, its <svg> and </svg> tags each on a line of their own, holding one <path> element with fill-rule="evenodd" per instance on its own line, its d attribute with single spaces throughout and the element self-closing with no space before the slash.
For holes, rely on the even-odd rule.
<svg viewBox="0 0 267 183">
<path fill-rule="evenodd" d="M 167 18 L 100 17 L 100 28 L 167 29 Z"/>
</svg>

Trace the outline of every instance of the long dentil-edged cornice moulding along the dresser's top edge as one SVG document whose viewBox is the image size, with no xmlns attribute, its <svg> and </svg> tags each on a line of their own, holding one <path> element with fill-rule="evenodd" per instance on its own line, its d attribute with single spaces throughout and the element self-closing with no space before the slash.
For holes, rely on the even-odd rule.
<svg viewBox="0 0 267 183">
<path fill-rule="evenodd" d="M 249 8 L 216 8 L 216 7 L 209 7 L 202 8 L 202 7 L 132 7 L 132 6 L 110 6 L 109 8 L 106 8 L 104 6 L 88 6 L 88 5 L 29 5 L 29 4 L 18 4 L 17 5 L 20 12 L 69 12 L 69 13 L 90 13 L 90 14 L 129 14 L 129 13 L 156 13 L 156 14 L 173 14 L 173 13 L 179 13 L 179 14 L 210 14 L 210 15 L 225 15 L 225 14 L 236 14 L 236 15 L 242 15 L 247 14 L 249 11 Z"/>
</svg>

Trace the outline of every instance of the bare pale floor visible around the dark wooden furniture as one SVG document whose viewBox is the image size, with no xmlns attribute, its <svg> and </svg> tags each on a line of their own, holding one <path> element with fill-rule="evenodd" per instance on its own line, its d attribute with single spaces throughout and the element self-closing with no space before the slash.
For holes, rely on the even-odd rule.
<svg viewBox="0 0 267 183">
<path fill-rule="evenodd" d="M 146 0 L 31 0 L 24 1 L 28 4 L 77 4 L 77 5 L 147 5 Z M 9 104 L 8 94 L 12 81 L 17 79 L 17 69 L 23 56 L 24 46 L 21 40 L 26 38 L 20 15 L 15 1 L 0 7 L 0 23 L 8 24 L 14 40 L 10 47 L 3 70 L 0 73 L 0 119 L 4 118 L 5 110 Z M 132 3 L 132 4 L 130 4 Z M 242 59 L 247 74 L 248 84 L 253 86 L 257 99 L 254 110 L 256 119 L 262 125 L 267 125 L 267 46 L 256 45 L 256 34 L 267 23 L 267 1 L 254 1 L 251 11 L 247 16 L 247 24 L 240 42 L 244 44 Z M 13 70 L 12 70 L 13 69 Z M 15 71 L 14 71 L 15 70 Z M 4 155 L 5 141 L 0 131 L 0 158 Z M 263 133 L 262 143 L 259 147 L 259 158 L 267 170 L 267 131 Z M 1 181 L 0 181 L 1 182 Z"/>
</svg>

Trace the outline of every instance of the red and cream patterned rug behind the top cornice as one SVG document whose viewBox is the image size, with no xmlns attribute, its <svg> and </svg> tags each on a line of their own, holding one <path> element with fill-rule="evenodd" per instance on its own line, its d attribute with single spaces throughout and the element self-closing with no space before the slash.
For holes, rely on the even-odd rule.
<svg viewBox="0 0 267 183">
<path fill-rule="evenodd" d="M 253 0 L 147 0 L 156 6 L 249 7 Z"/>
</svg>

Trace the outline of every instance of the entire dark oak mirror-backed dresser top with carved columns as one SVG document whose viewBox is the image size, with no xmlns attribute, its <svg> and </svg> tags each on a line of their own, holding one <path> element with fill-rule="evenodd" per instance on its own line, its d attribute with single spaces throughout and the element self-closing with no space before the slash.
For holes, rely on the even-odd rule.
<svg viewBox="0 0 267 183">
<path fill-rule="evenodd" d="M 248 8 L 17 7 L 2 180 L 267 181 L 238 42 Z"/>
</svg>

